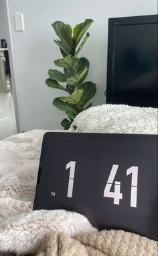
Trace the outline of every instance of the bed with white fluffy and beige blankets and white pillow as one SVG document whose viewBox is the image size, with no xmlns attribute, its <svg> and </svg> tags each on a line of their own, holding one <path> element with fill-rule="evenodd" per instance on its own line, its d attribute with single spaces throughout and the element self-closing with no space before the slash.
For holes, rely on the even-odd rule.
<svg viewBox="0 0 158 256">
<path fill-rule="evenodd" d="M 157 255 L 157 242 L 138 234 L 98 232 L 85 216 L 65 210 L 32 211 L 46 132 L 0 141 L 0 255 Z M 94 106 L 68 132 L 157 134 L 157 108 Z"/>
</svg>

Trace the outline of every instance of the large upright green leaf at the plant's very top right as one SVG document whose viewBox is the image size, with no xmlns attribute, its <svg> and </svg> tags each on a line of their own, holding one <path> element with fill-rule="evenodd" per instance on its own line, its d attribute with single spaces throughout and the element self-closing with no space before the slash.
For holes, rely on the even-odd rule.
<svg viewBox="0 0 158 256">
<path fill-rule="evenodd" d="M 82 36 L 84 36 L 86 30 L 88 30 L 88 28 L 90 27 L 92 22 L 93 22 L 93 20 L 86 19 L 85 22 L 76 25 L 76 27 L 74 28 L 73 39 L 76 42 L 76 46 L 78 45 L 78 43 L 82 39 Z"/>
</svg>

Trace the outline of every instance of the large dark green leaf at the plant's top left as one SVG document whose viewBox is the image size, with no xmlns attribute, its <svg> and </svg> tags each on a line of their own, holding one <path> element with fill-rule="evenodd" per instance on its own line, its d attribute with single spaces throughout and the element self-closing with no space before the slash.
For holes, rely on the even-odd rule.
<svg viewBox="0 0 158 256">
<path fill-rule="evenodd" d="M 54 22 L 52 24 L 54 31 L 56 32 L 57 36 L 59 36 L 60 41 L 65 49 L 71 51 L 71 40 L 70 40 L 70 27 L 66 26 L 64 22 Z"/>
</svg>

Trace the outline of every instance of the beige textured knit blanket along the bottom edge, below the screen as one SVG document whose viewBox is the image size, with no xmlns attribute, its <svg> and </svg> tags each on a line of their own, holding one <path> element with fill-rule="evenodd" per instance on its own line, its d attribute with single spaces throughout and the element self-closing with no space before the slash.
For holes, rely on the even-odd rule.
<svg viewBox="0 0 158 256">
<path fill-rule="evenodd" d="M 13 254 L 8 254 L 11 256 Z M 32 256 L 156 256 L 157 242 L 123 230 L 76 234 L 53 232 Z M 7 256 L 6 254 L 4 256 Z"/>
</svg>

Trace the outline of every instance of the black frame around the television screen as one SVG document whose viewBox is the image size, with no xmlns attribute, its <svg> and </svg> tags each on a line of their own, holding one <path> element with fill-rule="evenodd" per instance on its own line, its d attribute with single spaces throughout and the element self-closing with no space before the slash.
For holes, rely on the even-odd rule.
<svg viewBox="0 0 158 256">
<path fill-rule="evenodd" d="M 108 19 L 108 57 L 106 77 L 106 104 L 115 104 L 113 100 L 113 67 L 114 67 L 114 28 L 133 24 L 158 24 L 158 15 L 144 15 Z M 138 102 L 139 106 L 139 102 Z"/>
</svg>

